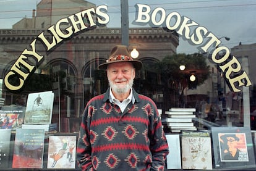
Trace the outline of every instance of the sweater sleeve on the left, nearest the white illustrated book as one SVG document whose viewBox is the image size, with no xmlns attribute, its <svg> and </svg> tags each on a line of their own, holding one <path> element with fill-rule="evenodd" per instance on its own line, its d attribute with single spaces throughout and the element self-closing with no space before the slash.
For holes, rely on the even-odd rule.
<svg viewBox="0 0 256 171">
<path fill-rule="evenodd" d="M 92 167 L 92 148 L 90 146 L 90 133 L 88 131 L 88 107 L 82 115 L 82 122 L 80 125 L 79 138 L 77 141 L 77 162 L 82 170 L 93 170 Z"/>
</svg>

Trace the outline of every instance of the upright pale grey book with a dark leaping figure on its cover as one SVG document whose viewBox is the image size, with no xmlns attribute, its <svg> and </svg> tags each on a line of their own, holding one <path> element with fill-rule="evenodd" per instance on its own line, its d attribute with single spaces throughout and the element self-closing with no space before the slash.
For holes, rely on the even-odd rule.
<svg viewBox="0 0 256 171">
<path fill-rule="evenodd" d="M 53 91 L 28 94 L 24 124 L 50 124 L 53 114 Z"/>
</svg>

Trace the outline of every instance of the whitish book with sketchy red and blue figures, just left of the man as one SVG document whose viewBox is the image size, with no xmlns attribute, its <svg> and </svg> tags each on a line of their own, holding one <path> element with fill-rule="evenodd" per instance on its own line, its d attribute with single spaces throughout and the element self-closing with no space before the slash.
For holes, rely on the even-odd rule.
<svg viewBox="0 0 256 171">
<path fill-rule="evenodd" d="M 48 169 L 75 169 L 76 136 L 49 136 Z"/>
</svg>

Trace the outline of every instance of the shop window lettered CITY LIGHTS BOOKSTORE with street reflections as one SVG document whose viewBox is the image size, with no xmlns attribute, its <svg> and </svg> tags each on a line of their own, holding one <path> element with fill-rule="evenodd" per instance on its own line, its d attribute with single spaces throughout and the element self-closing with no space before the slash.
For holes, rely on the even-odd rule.
<svg viewBox="0 0 256 171">
<path fill-rule="evenodd" d="M 241 140 L 252 135 L 247 145 L 254 150 L 255 6 L 252 0 L 0 1 L 0 130 L 7 119 L 22 127 L 29 94 L 52 91 L 51 123 L 57 126 L 46 134 L 78 136 L 87 102 L 109 87 L 98 65 L 113 46 L 125 44 L 143 63 L 134 89 L 155 102 L 166 134 L 182 136 L 166 120 L 172 109 L 188 109 L 193 131 L 238 127 L 246 132 Z M 15 129 L 9 129 L 14 141 Z M 254 153 L 243 153 L 253 157 L 233 169 L 255 167 Z M 1 154 L 0 146 L 0 161 Z M 231 168 L 220 160 L 213 169 Z M 0 162 L 2 168 L 11 169 L 12 162 Z"/>
</svg>

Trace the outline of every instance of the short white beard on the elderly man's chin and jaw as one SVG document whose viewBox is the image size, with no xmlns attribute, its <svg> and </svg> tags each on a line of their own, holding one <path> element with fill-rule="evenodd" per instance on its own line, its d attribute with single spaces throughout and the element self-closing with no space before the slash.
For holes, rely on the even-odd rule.
<svg viewBox="0 0 256 171">
<path fill-rule="evenodd" d="M 126 81 L 126 79 L 124 79 L 124 80 L 115 80 L 115 81 Z M 128 81 L 128 83 L 124 86 L 116 85 L 114 83 L 114 81 L 109 81 L 109 86 L 111 87 L 112 91 L 116 92 L 117 94 L 127 93 L 132 88 L 133 84 L 134 84 L 133 79 L 130 79 Z"/>
</svg>

